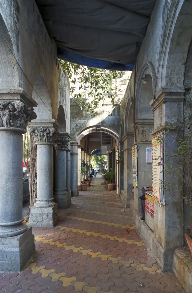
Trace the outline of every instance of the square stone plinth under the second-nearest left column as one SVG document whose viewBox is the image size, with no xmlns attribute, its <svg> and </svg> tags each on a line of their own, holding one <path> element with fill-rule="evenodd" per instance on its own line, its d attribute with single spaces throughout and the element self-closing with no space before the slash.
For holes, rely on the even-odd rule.
<svg viewBox="0 0 192 293">
<path fill-rule="evenodd" d="M 57 204 L 53 207 L 32 207 L 29 225 L 33 227 L 53 228 L 58 221 Z"/>
</svg>

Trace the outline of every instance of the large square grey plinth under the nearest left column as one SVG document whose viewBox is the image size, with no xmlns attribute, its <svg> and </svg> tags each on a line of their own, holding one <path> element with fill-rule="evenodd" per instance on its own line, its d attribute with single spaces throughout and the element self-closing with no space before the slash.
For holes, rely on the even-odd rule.
<svg viewBox="0 0 192 293">
<path fill-rule="evenodd" d="M 21 271 L 34 253 L 31 227 L 23 234 L 0 238 L 0 271 Z"/>
</svg>

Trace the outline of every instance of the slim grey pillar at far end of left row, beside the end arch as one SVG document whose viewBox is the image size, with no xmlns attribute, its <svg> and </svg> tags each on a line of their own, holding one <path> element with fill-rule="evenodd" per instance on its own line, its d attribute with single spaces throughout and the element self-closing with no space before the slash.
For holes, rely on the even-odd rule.
<svg viewBox="0 0 192 293">
<path fill-rule="evenodd" d="M 77 187 L 78 142 L 71 142 L 71 196 L 79 196 Z"/>
</svg>

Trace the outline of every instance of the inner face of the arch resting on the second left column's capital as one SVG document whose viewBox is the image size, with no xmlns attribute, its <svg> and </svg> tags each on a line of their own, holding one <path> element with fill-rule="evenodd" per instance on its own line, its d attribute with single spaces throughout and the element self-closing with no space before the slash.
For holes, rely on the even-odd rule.
<svg viewBox="0 0 192 293">
<path fill-rule="evenodd" d="M 33 85 L 32 98 L 38 103 L 37 119 L 52 119 L 51 97 L 45 80 L 38 75 Z"/>
</svg>

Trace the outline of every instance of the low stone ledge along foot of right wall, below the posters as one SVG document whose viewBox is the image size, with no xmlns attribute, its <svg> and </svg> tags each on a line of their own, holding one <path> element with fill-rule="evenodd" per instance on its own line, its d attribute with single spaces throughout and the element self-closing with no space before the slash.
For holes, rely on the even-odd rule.
<svg viewBox="0 0 192 293">
<path fill-rule="evenodd" d="M 134 200 L 131 200 L 131 210 L 133 212 L 133 221 L 135 222 L 136 229 L 140 233 L 146 246 L 151 250 L 154 258 L 157 260 L 158 265 L 164 272 L 172 270 L 173 264 L 173 251 L 164 250 L 161 244 L 157 241 L 153 230 L 140 218 L 134 210 Z"/>
</svg>

